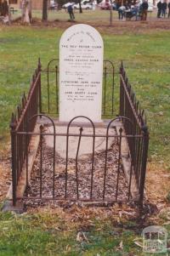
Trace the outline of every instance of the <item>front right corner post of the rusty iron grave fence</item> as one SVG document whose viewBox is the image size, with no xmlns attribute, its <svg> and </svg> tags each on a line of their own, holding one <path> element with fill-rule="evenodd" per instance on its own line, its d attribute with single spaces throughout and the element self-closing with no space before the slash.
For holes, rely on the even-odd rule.
<svg viewBox="0 0 170 256">
<path fill-rule="evenodd" d="M 142 127 L 143 138 L 144 138 L 144 149 L 143 149 L 143 161 L 142 161 L 142 172 L 140 177 L 140 185 L 139 185 L 139 204 L 143 205 L 144 200 L 144 182 L 145 182 L 145 174 L 146 174 L 146 164 L 148 157 L 148 147 L 149 147 L 149 132 L 146 125 Z"/>
</svg>

